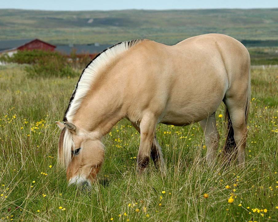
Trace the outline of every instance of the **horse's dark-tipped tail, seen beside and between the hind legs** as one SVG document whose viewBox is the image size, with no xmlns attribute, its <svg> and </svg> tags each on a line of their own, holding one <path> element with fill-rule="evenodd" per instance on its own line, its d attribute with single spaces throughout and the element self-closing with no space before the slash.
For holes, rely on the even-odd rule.
<svg viewBox="0 0 278 222">
<path fill-rule="evenodd" d="M 249 70 L 248 95 L 247 95 L 247 101 L 245 105 L 245 124 L 247 124 L 247 120 L 248 120 L 250 96 L 251 96 L 251 80 L 250 80 L 250 70 Z M 227 122 L 227 130 L 226 130 L 226 140 L 225 140 L 223 150 L 227 154 L 233 152 L 236 147 L 236 142 L 233 137 L 234 135 L 233 125 L 232 125 L 231 117 L 227 109 L 227 106 L 225 110 L 225 121 Z"/>
</svg>

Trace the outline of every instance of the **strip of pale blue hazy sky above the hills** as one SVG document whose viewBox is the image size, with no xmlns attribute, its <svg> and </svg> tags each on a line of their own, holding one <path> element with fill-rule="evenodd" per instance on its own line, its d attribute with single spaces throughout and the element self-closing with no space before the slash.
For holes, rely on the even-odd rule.
<svg viewBox="0 0 278 222">
<path fill-rule="evenodd" d="M 278 8 L 278 0 L 0 0 L 0 9 L 7 8 L 40 10 Z"/>
</svg>

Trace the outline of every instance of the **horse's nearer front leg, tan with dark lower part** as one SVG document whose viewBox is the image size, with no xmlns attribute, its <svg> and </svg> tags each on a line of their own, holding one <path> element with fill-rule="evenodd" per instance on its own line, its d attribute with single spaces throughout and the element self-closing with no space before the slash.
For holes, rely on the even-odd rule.
<svg viewBox="0 0 278 222">
<path fill-rule="evenodd" d="M 140 122 L 140 146 L 137 156 L 138 172 L 146 170 L 150 162 L 150 154 L 153 140 L 155 138 L 155 128 L 157 119 L 152 114 L 145 115 Z"/>
</svg>

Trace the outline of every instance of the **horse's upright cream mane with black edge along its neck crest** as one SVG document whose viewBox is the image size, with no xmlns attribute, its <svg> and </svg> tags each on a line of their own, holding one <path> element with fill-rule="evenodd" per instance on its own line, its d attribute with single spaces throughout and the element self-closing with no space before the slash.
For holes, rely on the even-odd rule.
<svg viewBox="0 0 278 222">
<path fill-rule="evenodd" d="M 66 109 L 63 121 L 72 122 L 74 114 L 79 109 L 83 98 L 87 95 L 92 82 L 99 73 L 99 70 L 105 65 L 108 65 L 121 53 L 143 41 L 147 41 L 147 39 L 119 42 L 100 52 L 82 71 L 72 93 L 72 97 L 69 100 L 69 105 Z"/>
</svg>

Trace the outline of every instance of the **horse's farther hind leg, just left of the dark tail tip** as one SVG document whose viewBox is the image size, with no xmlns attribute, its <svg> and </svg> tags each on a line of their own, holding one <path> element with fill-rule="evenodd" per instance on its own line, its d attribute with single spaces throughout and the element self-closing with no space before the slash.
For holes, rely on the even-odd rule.
<svg viewBox="0 0 278 222">
<path fill-rule="evenodd" d="M 208 118 L 200 121 L 200 125 L 205 134 L 206 141 L 206 161 L 208 166 L 213 167 L 216 159 L 216 153 L 218 148 L 219 134 L 216 128 L 215 113 Z"/>
</svg>

